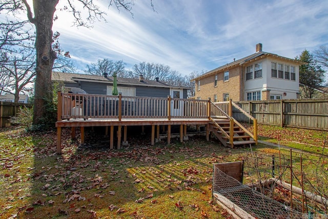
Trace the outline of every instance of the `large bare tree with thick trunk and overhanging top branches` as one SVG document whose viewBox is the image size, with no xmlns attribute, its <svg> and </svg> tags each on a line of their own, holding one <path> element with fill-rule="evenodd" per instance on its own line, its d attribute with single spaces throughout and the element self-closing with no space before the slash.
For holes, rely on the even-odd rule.
<svg viewBox="0 0 328 219">
<path fill-rule="evenodd" d="M 64 1 L 64 0 L 63 0 Z M 41 123 L 42 117 L 46 115 L 46 99 L 52 98 L 51 92 L 51 72 L 54 61 L 57 57 L 52 48 L 53 32 L 52 24 L 57 18 L 55 15 L 56 6 L 59 0 L 34 0 L 33 10 L 27 0 L 2 0 L 0 8 L 12 13 L 26 13 L 28 21 L 35 26 L 36 30 L 36 78 L 33 124 Z M 83 6 L 87 16 L 78 10 L 77 4 Z M 67 0 L 67 5 L 63 8 L 71 12 L 75 18 L 76 26 L 89 26 L 95 20 L 105 19 L 105 12 L 101 11 L 100 5 L 94 0 Z M 134 5 L 133 0 L 109 0 L 109 6 L 131 12 Z M 152 2 L 151 2 L 152 5 Z M 89 26 L 90 27 L 90 26 Z"/>
</svg>

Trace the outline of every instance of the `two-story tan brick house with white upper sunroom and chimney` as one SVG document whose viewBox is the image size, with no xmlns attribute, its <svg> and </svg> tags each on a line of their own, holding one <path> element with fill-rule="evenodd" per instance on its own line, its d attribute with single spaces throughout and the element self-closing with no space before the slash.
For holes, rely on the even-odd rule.
<svg viewBox="0 0 328 219">
<path fill-rule="evenodd" d="M 195 81 L 195 98 L 213 102 L 299 98 L 299 66 L 305 63 L 263 52 L 234 60 L 204 73 Z"/>
</svg>

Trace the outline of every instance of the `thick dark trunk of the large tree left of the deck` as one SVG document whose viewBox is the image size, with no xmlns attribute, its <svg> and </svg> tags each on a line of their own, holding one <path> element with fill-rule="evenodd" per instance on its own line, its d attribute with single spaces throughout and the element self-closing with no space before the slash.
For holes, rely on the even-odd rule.
<svg viewBox="0 0 328 219">
<path fill-rule="evenodd" d="M 36 28 L 36 77 L 34 88 L 33 124 L 42 122 L 45 101 L 52 98 L 51 72 L 56 53 L 52 50 L 53 14 L 59 0 L 33 0 Z"/>
</svg>

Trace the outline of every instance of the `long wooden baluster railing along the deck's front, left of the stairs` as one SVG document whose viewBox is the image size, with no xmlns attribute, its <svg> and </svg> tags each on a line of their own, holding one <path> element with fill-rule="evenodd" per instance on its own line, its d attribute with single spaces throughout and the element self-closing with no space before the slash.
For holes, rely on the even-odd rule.
<svg viewBox="0 0 328 219">
<path fill-rule="evenodd" d="M 72 118 L 207 118 L 208 101 L 58 92 L 58 121 Z"/>
</svg>

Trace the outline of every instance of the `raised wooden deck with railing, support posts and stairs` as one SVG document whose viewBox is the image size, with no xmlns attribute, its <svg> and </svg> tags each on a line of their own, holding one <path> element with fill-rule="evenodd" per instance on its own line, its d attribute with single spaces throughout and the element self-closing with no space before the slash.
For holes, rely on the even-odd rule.
<svg viewBox="0 0 328 219">
<path fill-rule="evenodd" d="M 105 127 L 106 134 L 110 133 L 110 149 L 114 148 L 114 127 L 117 127 L 117 149 L 120 149 L 121 144 L 127 144 L 128 126 L 151 126 L 151 145 L 159 139 L 160 126 L 166 130 L 167 143 L 170 144 L 171 126 L 180 126 L 179 136 L 183 142 L 188 138 L 187 126 L 191 125 L 205 126 L 207 140 L 210 133 L 215 132 L 225 146 L 233 147 L 236 141 L 257 143 L 256 120 L 253 120 L 255 129 L 251 133 L 231 117 L 232 106 L 231 101 L 213 103 L 170 96 L 152 98 L 58 92 L 57 153 L 61 153 L 63 127 L 71 127 L 72 138 L 75 138 L 75 128 L 80 127 L 81 143 L 84 143 L 85 127 Z M 245 132 L 247 135 L 242 135 Z"/>
</svg>

